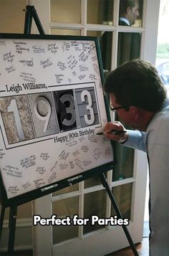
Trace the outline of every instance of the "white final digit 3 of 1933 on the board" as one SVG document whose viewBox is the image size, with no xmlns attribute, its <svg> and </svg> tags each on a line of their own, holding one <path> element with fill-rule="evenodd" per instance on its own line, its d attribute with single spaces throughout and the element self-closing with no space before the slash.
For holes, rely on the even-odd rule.
<svg viewBox="0 0 169 256">
<path fill-rule="evenodd" d="M 92 125 L 92 123 L 94 123 L 94 121 L 95 121 L 95 115 L 94 115 L 94 111 L 92 108 L 92 97 L 88 90 L 83 90 L 81 93 L 82 103 L 85 102 L 85 96 L 87 96 L 87 99 L 88 99 L 88 105 L 86 106 L 86 108 L 87 108 L 87 110 L 90 111 L 90 119 L 88 118 L 88 115 L 84 115 L 84 120 L 87 123 L 87 125 Z"/>
</svg>

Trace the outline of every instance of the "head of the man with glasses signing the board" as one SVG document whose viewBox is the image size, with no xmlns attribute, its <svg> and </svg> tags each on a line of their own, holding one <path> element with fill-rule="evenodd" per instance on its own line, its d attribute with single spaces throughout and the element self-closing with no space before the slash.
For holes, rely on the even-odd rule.
<svg viewBox="0 0 169 256">
<path fill-rule="evenodd" d="M 131 60 L 110 72 L 105 92 L 110 94 L 112 108 L 122 106 L 117 110 L 119 117 L 142 131 L 167 98 L 158 71 L 144 60 Z"/>
</svg>

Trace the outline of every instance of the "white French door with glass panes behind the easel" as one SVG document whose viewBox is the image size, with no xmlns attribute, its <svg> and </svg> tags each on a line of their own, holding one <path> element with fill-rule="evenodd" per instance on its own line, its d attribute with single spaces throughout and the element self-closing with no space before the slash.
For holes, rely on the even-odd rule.
<svg viewBox="0 0 169 256">
<path fill-rule="evenodd" d="M 133 26 L 119 25 L 120 0 L 32 0 L 29 4 L 37 9 L 46 34 L 99 37 L 106 74 L 138 57 L 155 62 L 160 0 L 138 2 L 139 16 Z M 143 239 L 147 159 L 140 151 L 115 147 L 117 165 L 107 172 L 107 182 L 122 217 L 130 219 L 127 228 L 137 243 Z M 98 256 L 129 245 L 120 225 L 103 222 L 114 217 L 115 210 L 97 177 L 37 199 L 33 209 L 44 218 L 54 214 L 58 218 L 79 218 L 74 225 L 34 226 L 34 255 Z M 95 219 L 92 223 L 93 216 L 100 222 Z M 90 221 L 84 225 L 82 219 Z"/>
</svg>

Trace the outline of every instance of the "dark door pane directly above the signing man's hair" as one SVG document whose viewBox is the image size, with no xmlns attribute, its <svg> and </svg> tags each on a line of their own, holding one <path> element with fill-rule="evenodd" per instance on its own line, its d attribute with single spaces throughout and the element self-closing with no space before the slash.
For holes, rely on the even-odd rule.
<svg viewBox="0 0 169 256">
<path fill-rule="evenodd" d="M 120 32 L 118 34 L 117 65 L 140 57 L 140 43 L 140 33 Z"/>
</svg>

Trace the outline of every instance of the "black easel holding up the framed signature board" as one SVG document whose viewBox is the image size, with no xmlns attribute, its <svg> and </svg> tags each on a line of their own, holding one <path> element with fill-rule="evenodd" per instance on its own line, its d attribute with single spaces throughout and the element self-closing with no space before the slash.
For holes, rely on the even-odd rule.
<svg viewBox="0 0 169 256">
<path fill-rule="evenodd" d="M 42 24 L 39 20 L 39 17 L 37 16 L 37 11 L 34 9 L 34 6 L 26 6 L 26 15 L 25 15 L 25 23 L 24 23 L 24 34 L 31 34 L 31 28 L 32 28 L 32 18 L 34 18 L 34 22 L 37 25 L 37 29 L 39 30 L 39 34 L 45 34 L 44 29 L 42 28 Z M 117 207 L 117 204 L 115 202 L 115 197 L 112 194 L 112 191 L 110 189 L 109 184 L 107 184 L 107 179 L 105 178 L 105 174 L 100 175 L 100 180 L 102 181 L 102 185 L 105 187 L 107 194 L 110 197 L 110 200 L 112 202 L 112 206 L 115 209 L 115 212 L 117 214 L 117 217 L 119 219 L 122 219 L 122 214 L 120 213 L 120 210 Z M 0 219 L 0 237 L 1 237 L 1 230 L 2 225 L 4 222 L 4 212 L 5 212 L 5 206 L 2 204 L 1 208 L 1 219 Z M 8 253 L 9 255 L 12 255 L 14 253 L 14 238 L 15 238 L 15 229 L 16 229 L 16 212 L 17 212 L 17 206 L 10 207 L 10 215 L 9 215 L 9 243 L 8 243 Z M 128 231 L 127 227 L 125 225 L 122 225 L 122 228 L 125 232 L 125 235 L 127 237 L 127 240 L 130 244 L 130 247 L 132 249 L 132 252 L 135 256 L 138 256 L 137 250 L 135 248 L 134 242 L 132 241 L 132 238 L 130 236 L 130 232 Z"/>
</svg>

